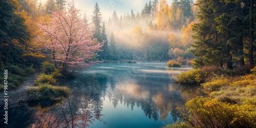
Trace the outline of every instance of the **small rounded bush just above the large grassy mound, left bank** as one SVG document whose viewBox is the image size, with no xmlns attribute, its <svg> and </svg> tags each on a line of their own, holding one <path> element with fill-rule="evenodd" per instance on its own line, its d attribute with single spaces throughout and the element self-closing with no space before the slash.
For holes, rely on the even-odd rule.
<svg viewBox="0 0 256 128">
<path fill-rule="evenodd" d="M 53 78 L 52 75 L 46 75 L 44 73 L 40 74 L 36 79 L 35 79 L 35 86 L 38 86 L 41 83 L 49 83 L 52 85 L 56 85 L 56 79 Z"/>
</svg>

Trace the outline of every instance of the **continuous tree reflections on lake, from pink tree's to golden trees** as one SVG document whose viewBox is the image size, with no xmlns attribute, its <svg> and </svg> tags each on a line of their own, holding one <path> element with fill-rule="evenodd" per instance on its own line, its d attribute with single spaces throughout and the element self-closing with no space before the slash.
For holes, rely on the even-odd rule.
<svg viewBox="0 0 256 128">
<path fill-rule="evenodd" d="M 105 97 L 114 108 L 120 103 L 131 106 L 133 111 L 137 106 L 146 117 L 155 121 L 159 118 L 164 120 L 169 114 L 177 119 L 171 110 L 184 104 L 184 100 L 181 93 L 173 88 L 173 81 L 166 79 L 170 73 L 166 76 L 145 72 L 137 76 L 127 74 L 112 77 L 104 72 L 83 73 L 69 80 L 72 96 L 50 109 L 44 108 L 35 113 L 34 117 L 40 118 L 31 127 L 87 127 L 95 120 L 105 123 L 101 114 Z"/>
</svg>

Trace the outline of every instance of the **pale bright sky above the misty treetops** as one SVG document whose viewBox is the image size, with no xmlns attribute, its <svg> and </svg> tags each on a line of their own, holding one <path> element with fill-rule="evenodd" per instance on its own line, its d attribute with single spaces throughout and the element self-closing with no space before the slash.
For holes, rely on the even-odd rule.
<svg viewBox="0 0 256 128">
<path fill-rule="evenodd" d="M 133 9 L 134 13 L 141 12 L 142 8 L 150 0 L 74 0 L 75 7 L 86 12 L 87 18 L 90 20 L 93 15 L 93 10 L 96 2 L 99 5 L 100 12 L 103 20 L 108 22 L 114 10 L 116 10 L 118 17 L 123 16 L 124 13 L 131 13 Z M 172 0 L 167 0 L 170 5 Z"/>
</svg>

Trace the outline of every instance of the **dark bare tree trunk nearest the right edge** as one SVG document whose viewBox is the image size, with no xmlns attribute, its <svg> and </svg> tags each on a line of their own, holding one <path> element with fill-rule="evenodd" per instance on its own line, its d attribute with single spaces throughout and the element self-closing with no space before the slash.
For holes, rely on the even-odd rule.
<svg viewBox="0 0 256 128">
<path fill-rule="evenodd" d="M 250 23 L 249 23 L 249 63 L 253 65 L 253 0 L 250 0 Z"/>
</svg>

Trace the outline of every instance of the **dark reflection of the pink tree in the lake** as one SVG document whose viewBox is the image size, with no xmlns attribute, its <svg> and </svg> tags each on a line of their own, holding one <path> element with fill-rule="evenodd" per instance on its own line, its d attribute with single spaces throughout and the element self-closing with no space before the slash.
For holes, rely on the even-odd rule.
<svg viewBox="0 0 256 128">
<path fill-rule="evenodd" d="M 105 95 L 108 78 L 83 75 L 69 82 L 72 96 L 53 106 L 34 107 L 38 111 L 33 114 L 35 119 L 30 127 L 88 127 L 95 120 L 105 123 L 101 118 L 101 97 Z"/>
</svg>

